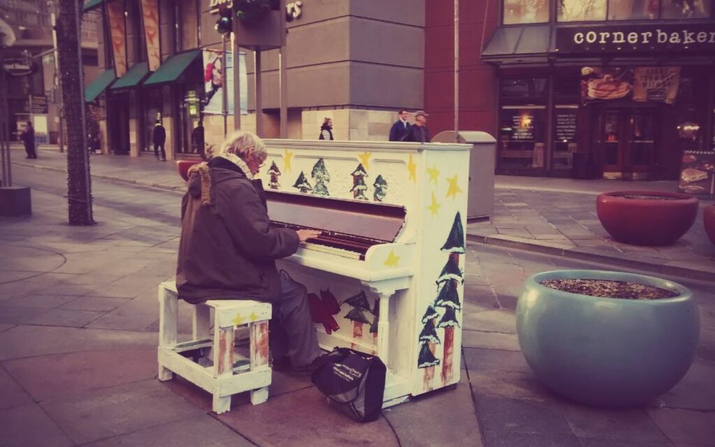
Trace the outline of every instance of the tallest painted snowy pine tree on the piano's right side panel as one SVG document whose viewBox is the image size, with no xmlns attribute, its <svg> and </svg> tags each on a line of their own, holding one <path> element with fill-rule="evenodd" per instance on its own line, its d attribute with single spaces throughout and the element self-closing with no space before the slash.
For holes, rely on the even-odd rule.
<svg viewBox="0 0 715 447">
<path fill-rule="evenodd" d="M 464 282 L 462 270 L 459 268 L 459 255 L 464 254 L 464 248 L 462 216 L 457 212 L 447 240 L 442 246 L 442 250 L 449 253 L 449 258 L 440 273 L 440 277 L 437 278 L 437 284 L 441 285 L 441 287 L 435 300 L 435 305 L 445 310 L 442 319 L 437 324 L 438 328 L 445 330 L 444 355 L 442 357 L 444 360 L 442 365 L 443 385 L 447 385 L 453 377 L 454 328 L 459 327 L 457 311 L 462 309 L 458 282 Z"/>
</svg>

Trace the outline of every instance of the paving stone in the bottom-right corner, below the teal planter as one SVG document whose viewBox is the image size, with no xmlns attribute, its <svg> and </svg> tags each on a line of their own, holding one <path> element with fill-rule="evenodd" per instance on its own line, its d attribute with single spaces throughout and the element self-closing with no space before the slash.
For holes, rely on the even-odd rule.
<svg viewBox="0 0 715 447">
<path fill-rule="evenodd" d="M 715 446 L 715 413 L 649 408 L 648 416 L 675 443 Z"/>
</svg>

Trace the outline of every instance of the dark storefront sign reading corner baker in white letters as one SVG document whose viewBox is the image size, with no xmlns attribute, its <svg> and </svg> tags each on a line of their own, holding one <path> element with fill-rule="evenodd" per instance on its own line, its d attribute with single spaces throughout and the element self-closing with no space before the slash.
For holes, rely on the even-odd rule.
<svg viewBox="0 0 715 447">
<path fill-rule="evenodd" d="M 556 51 L 562 54 L 688 51 L 715 53 L 711 24 L 565 26 L 556 29 Z"/>
</svg>

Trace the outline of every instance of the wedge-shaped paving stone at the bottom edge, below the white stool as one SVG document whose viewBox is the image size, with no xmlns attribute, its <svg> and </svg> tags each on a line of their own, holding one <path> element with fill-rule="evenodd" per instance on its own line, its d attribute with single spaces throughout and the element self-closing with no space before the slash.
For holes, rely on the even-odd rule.
<svg viewBox="0 0 715 447">
<path fill-rule="evenodd" d="M 254 443 L 208 415 L 145 428 L 87 444 L 87 447 L 252 447 Z"/>
</svg>

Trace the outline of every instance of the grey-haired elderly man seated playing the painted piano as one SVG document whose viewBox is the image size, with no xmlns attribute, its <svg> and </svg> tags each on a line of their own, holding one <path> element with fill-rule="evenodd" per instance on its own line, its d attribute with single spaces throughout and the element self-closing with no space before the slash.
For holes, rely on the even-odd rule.
<svg viewBox="0 0 715 447">
<path fill-rule="evenodd" d="M 189 303 L 216 298 L 270 302 L 274 368 L 307 374 L 320 356 L 307 291 L 279 275 L 275 260 L 292 255 L 299 242 L 320 232 L 271 225 L 261 181 L 254 180 L 266 157 L 259 137 L 235 132 L 209 162 L 189 170 L 177 288 Z"/>
</svg>

